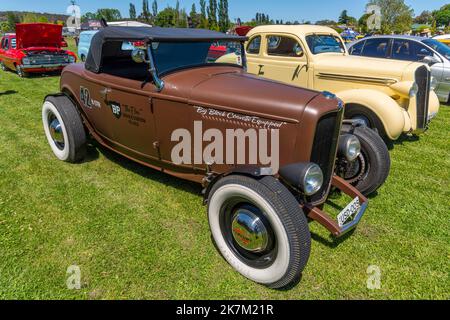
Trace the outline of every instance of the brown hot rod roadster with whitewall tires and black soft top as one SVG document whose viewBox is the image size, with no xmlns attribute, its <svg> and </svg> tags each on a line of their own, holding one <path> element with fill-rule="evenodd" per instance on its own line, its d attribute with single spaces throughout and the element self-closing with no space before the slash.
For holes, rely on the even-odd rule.
<svg viewBox="0 0 450 320">
<path fill-rule="evenodd" d="M 363 216 L 366 197 L 335 174 L 337 166 L 349 174 L 363 152 L 352 133 L 368 139 L 363 150 L 371 154 L 385 152 L 377 149 L 384 144 L 358 123 L 343 126 L 334 95 L 246 73 L 245 40 L 206 30 L 106 27 L 86 63 L 64 69 L 61 92 L 45 98 L 42 118 L 60 160 L 82 160 L 91 136 L 145 166 L 201 183 L 221 254 L 247 278 L 282 288 L 307 263 L 308 218 L 341 236 Z M 129 41 L 145 49 L 125 50 Z M 237 53 L 235 64 L 211 58 L 217 42 Z M 379 185 L 387 172 L 380 177 L 372 161 L 365 179 Z M 337 218 L 323 211 L 331 188 L 353 199 Z"/>
</svg>

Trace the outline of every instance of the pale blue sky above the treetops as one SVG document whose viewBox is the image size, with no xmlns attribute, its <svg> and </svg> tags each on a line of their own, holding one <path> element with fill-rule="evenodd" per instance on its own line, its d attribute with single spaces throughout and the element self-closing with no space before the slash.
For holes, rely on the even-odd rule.
<svg viewBox="0 0 450 320">
<path fill-rule="evenodd" d="M 19 10 L 64 13 L 70 1 L 65 0 L 0 0 L 0 11 Z M 142 9 L 142 0 L 77 0 L 82 13 L 96 11 L 98 8 L 117 8 L 123 16 L 128 16 L 129 3 L 136 5 L 138 14 Z M 149 0 L 151 3 L 152 0 Z M 192 3 L 199 0 L 180 0 L 182 7 L 190 11 Z M 208 3 L 208 0 L 206 1 Z M 230 17 L 234 20 L 250 20 L 257 11 L 267 13 L 273 19 L 317 21 L 336 20 L 340 12 L 347 9 L 349 14 L 359 18 L 367 0 L 229 0 Z M 448 3 L 448 0 L 406 0 L 416 14 L 423 10 L 435 10 Z M 175 6 L 176 0 L 158 0 L 159 9 L 167 5 Z"/>
</svg>

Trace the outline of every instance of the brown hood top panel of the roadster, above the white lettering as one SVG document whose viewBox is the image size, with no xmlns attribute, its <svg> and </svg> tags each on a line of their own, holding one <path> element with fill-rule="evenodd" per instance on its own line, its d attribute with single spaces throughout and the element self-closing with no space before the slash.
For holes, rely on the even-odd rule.
<svg viewBox="0 0 450 320">
<path fill-rule="evenodd" d="M 306 105 L 319 94 L 250 75 L 235 67 L 189 69 L 168 75 L 164 81 L 166 93 L 186 98 L 191 104 L 235 109 L 269 119 L 299 120 Z"/>
</svg>

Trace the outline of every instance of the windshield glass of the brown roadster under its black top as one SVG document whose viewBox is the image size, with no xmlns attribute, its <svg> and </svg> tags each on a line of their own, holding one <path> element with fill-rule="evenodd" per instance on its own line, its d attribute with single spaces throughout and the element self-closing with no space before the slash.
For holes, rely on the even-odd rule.
<svg viewBox="0 0 450 320">
<path fill-rule="evenodd" d="M 209 64 L 242 66 L 241 45 L 237 41 L 154 42 L 152 50 L 160 75 L 177 69 Z M 224 57 L 225 55 L 227 57 Z"/>
</svg>

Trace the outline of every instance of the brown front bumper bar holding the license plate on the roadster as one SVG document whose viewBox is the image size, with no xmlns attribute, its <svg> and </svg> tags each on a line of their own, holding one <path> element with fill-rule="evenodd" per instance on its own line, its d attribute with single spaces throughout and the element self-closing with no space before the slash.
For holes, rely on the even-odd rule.
<svg viewBox="0 0 450 320">
<path fill-rule="evenodd" d="M 331 180 L 331 185 L 342 192 L 344 192 L 346 195 L 350 196 L 351 198 L 359 198 L 359 202 L 361 204 L 361 207 L 359 208 L 359 211 L 355 214 L 352 221 L 344 224 L 342 227 L 339 226 L 337 221 L 333 218 L 331 218 L 327 213 L 322 211 L 318 207 L 312 207 L 308 204 L 303 205 L 303 210 L 305 211 L 308 218 L 317 221 L 322 226 L 324 226 L 328 231 L 331 232 L 331 234 L 335 237 L 341 237 L 347 232 L 353 230 L 356 228 L 358 223 L 361 221 L 361 218 L 364 215 L 364 212 L 367 209 L 368 205 L 368 199 L 361 194 L 355 187 L 347 183 L 344 179 L 342 179 L 339 176 L 333 176 Z"/>
</svg>

